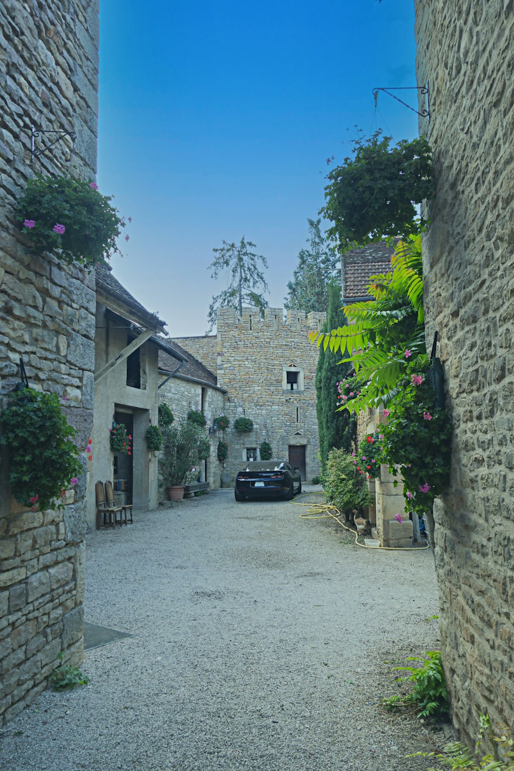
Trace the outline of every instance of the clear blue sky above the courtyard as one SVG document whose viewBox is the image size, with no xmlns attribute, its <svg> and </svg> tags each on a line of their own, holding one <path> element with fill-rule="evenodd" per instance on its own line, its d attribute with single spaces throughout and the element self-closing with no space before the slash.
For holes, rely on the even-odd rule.
<svg viewBox="0 0 514 771">
<path fill-rule="evenodd" d="M 375 86 L 415 86 L 412 0 L 105 0 L 100 12 L 102 193 L 132 217 L 116 278 L 170 335 L 202 335 L 213 247 L 257 244 L 282 306 L 326 159 L 354 126 L 394 140 L 417 116 Z M 402 98 L 415 105 L 415 92 Z"/>
</svg>

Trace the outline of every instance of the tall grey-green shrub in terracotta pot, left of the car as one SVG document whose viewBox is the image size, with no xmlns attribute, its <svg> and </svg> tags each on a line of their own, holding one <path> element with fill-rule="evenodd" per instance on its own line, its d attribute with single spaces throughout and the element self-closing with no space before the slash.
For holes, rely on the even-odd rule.
<svg viewBox="0 0 514 771">
<path fill-rule="evenodd" d="M 205 456 L 205 430 L 190 420 L 163 429 L 160 476 L 170 500 L 182 500 L 184 485 L 192 481 L 191 469 Z M 196 473 L 196 472 L 195 472 Z"/>
</svg>

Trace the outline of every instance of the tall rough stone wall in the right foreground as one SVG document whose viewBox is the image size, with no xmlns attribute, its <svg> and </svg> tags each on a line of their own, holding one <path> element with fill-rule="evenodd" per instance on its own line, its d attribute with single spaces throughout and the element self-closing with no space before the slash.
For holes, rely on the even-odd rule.
<svg viewBox="0 0 514 771">
<path fill-rule="evenodd" d="M 455 433 L 435 506 L 442 655 L 459 734 L 514 718 L 514 6 L 416 0 L 437 194 L 423 237 Z"/>
</svg>

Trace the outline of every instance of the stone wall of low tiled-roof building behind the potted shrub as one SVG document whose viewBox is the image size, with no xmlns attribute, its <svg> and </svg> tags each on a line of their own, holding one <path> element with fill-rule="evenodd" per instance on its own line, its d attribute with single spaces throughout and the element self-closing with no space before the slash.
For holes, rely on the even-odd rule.
<svg viewBox="0 0 514 771">
<path fill-rule="evenodd" d="M 160 375 L 160 382 L 164 382 L 166 377 L 167 375 Z M 201 409 L 202 389 L 204 389 L 203 412 L 207 419 L 208 428 L 212 426 L 214 418 L 224 414 L 224 397 L 223 392 L 219 389 L 212 388 L 207 384 L 202 385 L 186 377 L 173 377 L 159 389 L 159 403 L 167 404 L 176 420 L 185 420 L 190 409 Z M 218 436 L 211 434 L 210 456 L 207 459 L 207 475 L 204 464 L 200 463 L 202 481 L 207 481 L 211 490 L 217 490 L 221 484 L 221 464 L 217 459 L 217 445 Z M 161 499 L 164 500 L 162 488 L 160 493 Z"/>
</svg>

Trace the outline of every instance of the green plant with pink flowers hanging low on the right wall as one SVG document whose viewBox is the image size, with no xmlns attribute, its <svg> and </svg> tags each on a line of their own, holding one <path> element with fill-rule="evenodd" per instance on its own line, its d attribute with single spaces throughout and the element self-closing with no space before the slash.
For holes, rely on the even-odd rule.
<svg viewBox="0 0 514 771">
<path fill-rule="evenodd" d="M 428 382 L 428 356 L 418 356 L 384 415 L 380 426 L 384 436 L 382 463 L 404 479 L 406 510 L 420 515 L 431 509 L 436 496 L 444 492 L 450 474 L 452 422 L 448 412 L 435 408 L 435 392 Z"/>
</svg>

